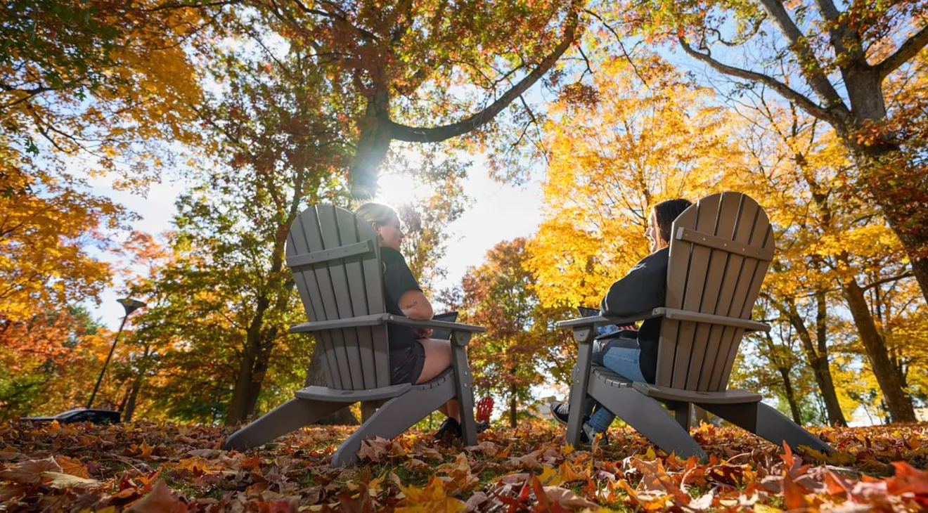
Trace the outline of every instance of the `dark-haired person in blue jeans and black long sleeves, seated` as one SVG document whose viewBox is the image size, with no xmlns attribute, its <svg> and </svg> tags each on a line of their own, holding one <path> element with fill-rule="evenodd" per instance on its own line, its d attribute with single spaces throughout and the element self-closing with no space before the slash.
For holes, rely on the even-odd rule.
<svg viewBox="0 0 928 513">
<path fill-rule="evenodd" d="M 670 230 L 677 216 L 690 204 L 686 199 L 668 199 L 654 205 L 645 231 L 645 237 L 651 241 L 651 254 L 612 284 L 599 305 L 600 314 L 621 317 L 664 306 Z M 598 340 L 605 343 L 594 347 L 593 364 L 605 366 L 631 381 L 653 383 L 660 335 L 660 317 L 645 320 L 638 331 L 624 329 L 607 335 L 608 339 Z M 567 404 L 551 404 L 551 414 L 562 424 L 567 424 L 569 412 Z M 581 440 L 588 443 L 596 433 L 605 432 L 614 418 L 611 411 L 595 404 L 593 415 L 583 425 Z"/>
</svg>

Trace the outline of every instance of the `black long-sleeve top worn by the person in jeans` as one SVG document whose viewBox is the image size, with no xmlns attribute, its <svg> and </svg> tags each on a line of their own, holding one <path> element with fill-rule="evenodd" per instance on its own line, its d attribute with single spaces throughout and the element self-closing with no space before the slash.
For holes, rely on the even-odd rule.
<svg viewBox="0 0 928 513">
<path fill-rule="evenodd" d="M 664 306 L 669 254 L 669 248 L 656 250 L 636 263 L 628 274 L 612 284 L 599 304 L 599 312 L 621 317 Z M 657 377 L 661 318 L 646 319 L 638 329 L 638 346 L 641 348 L 638 365 L 641 367 L 641 375 L 649 383 L 653 383 Z"/>
</svg>

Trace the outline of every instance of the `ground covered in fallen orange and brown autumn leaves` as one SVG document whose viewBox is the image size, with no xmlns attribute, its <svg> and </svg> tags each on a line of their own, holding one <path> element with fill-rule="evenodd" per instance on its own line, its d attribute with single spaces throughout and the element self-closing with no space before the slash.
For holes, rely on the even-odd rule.
<svg viewBox="0 0 928 513">
<path fill-rule="evenodd" d="M 350 432 L 307 429 L 242 454 L 218 449 L 218 428 L 0 424 L 0 511 L 928 510 L 925 424 L 816 430 L 837 449 L 827 458 L 703 425 L 707 463 L 627 429 L 592 451 L 543 422 L 467 448 L 413 431 L 329 468 Z"/>
</svg>

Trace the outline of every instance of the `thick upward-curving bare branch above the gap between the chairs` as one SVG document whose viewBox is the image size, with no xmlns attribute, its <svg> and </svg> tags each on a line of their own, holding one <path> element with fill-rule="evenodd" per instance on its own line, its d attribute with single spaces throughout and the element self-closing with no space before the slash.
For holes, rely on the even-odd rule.
<svg viewBox="0 0 928 513">
<path fill-rule="evenodd" d="M 577 9 L 574 8 L 568 17 L 561 43 L 557 45 L 547 57 L 538 63 L 535 70 L 525 75 L 521 81 L 513 85 L 503 96 L 499 96 L 496 101 L 491 103 L 486 109 L 459 122 L 435 127 L 412 127 L 393 122 L 392 120 L 385 120 L 389 127 L 391 138 L 411 143 L 434 143 L 450 139 L 451 137 L 457 137 L 458 135 L 467 134 L 480 128 L 483 124 L 490 122 L 496 117 L 496 114 L 502 111 L 502 109 L 505 109 L 512 100 L 521 96 L 522 93 L 535 84 L 538 79 L 544 76 L 545 73 L 554 66 L 558 59 L 561 58 L 564 52 L 574 44 L 577 37 L 579 19 Z"/>
</svg>

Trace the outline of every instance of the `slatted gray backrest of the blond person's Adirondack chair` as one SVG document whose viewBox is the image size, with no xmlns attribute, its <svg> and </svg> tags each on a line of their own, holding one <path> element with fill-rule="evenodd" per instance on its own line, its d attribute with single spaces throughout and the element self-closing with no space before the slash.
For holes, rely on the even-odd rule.
<svg viewBox="0 0 928 513">
<path fill-rule="evenodd" d="M 368 242 L 371 250 L 348 251 L 359 242 Z M 290 227 L 287 254 L 317 251 L 346 256 L 313 263 L 293 259 L 302 262 L 291 270 L 311 321 L 384 312 L 380 251 L 369 224 L 332 205 L 307 208 Z M 386 327 L 328 329 L 316 332 L 316 342 L 329 387 L 367 390 L 390 384 Z"/>
</svg>

